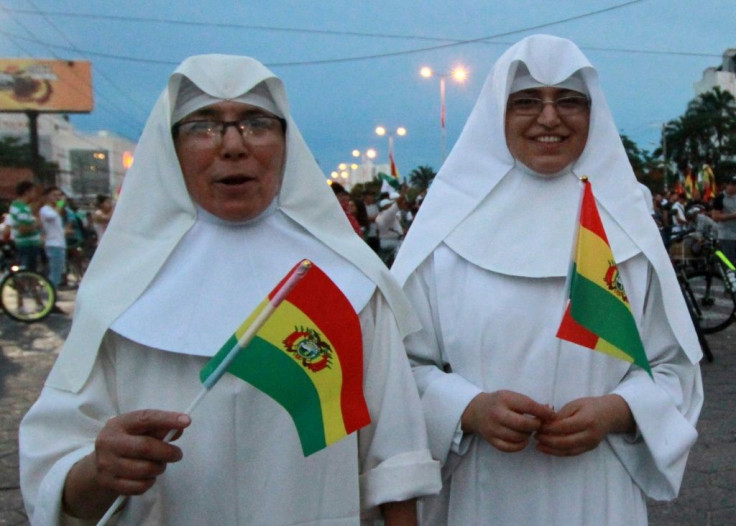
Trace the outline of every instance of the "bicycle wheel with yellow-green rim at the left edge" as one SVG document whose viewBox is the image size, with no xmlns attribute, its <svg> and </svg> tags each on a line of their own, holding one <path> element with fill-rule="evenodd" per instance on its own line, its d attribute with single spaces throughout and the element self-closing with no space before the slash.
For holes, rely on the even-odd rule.
<svg viewBox="0 0 736 526">
<path fill-rule="evenodd" d="M 43 275 L 30 270 L 8 274 L 0 283 L 0 306 L 17 321 L 44 319 L 56 303 L 56 290 Z"/>
</svg>

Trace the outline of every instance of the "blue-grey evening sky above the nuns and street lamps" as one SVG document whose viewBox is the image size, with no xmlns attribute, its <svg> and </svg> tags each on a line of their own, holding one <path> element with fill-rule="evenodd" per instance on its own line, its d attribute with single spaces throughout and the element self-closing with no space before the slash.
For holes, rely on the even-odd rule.
<svg viewBox="0 0 736 526">
<path fill-rule="evenodd" d="M 95 109 L 72 117 L 88 132 L 137 140 L 176 65 L 200 53 L 249 55 L 280 76 L 292 113 L 326 173 L 353 149 L 399 170 L 441 164 L 440 83 L 449 72 L 447 148 L 493 62 L 534 33 L 569 38 L 598 69 L 622 133 L 652 150 L 682 115 L 703 70 L 736 48 L 736 0 L 0 0 L 0 57 L 89 60 Z"/>
</svg>

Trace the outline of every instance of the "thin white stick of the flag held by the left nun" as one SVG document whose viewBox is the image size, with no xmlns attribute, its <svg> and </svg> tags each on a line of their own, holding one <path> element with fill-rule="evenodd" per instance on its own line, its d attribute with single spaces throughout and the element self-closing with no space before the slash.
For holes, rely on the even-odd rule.
<svg viewBox="0 0 736 526">
<path fill-rule="evenodd" d="M 273 314 L 273 312 L 281 304 L 284 298 L 306 275 L 307 271 L 309 271 L 310 268 L 312 268 L 312 263 L 306 259 L 302 260 L 302 262 L 299 264 L 299 267 L 294 271 L 291 276 L 289 276 L 289 279 L 286 280 L 286 283 L 281 286 L 274 297 L 263 307 L 263 310 L 258 314 L 258 316 L 256 316 L 256 319 L 253 320 L 253 323 L 251 323 L 245 333 L 243 333 L 243 336 L 241 336 L 238 341 L 233 345 L 232 349 L 228 351 L 225 359 L 223 359 L 222 362 L 220 362 L 220 364 L 215 368 L 215 370 L 212 371 L 210 375 L 202 382 L 202 385 L 204 387 L 194 398 L 194 400 L 192 400 L 192 403 L 189 404 L 189 407 L 185 411 L 187 415 L 192 414 L 194 409 L 199 405 L 202 399 L 204 399 L 205 395 L 209 392 L 210 389 L 212 389 L 212 386 L 215 385 L 220 378 L 222 378 L 223 374 L 225 374 L 225 371 L 227 371 L 227 368 L 235 359 L 238 351 L 243 347 L 246 347 L 250 343 L 250 341 L 253 339 L 253 336 L 255 336 L 255 334 L 261 329 L 263 324 L 266 323 L 268 318 L 271 317 L 271 314 Z M 176 429 L 172 429 L 171 431 L 169 431 L 163 439 L 164 442 L 171 441 L 175 434 Z M 112 518 L 115 512 L 118 511 L 120 506 L 122 506 L 123 502 L 125 502 L 126 498 L 126 495 L 118 496 L 118 498 L 115 499 L 115 502 L 112 503 L 112 506 L 110 506 L 107 512 L 99 520 L 99 522 L 97 522 L 97 526 L 104 526 L 105 524 L 107 524 L 107 522 Z"/>
</svg>

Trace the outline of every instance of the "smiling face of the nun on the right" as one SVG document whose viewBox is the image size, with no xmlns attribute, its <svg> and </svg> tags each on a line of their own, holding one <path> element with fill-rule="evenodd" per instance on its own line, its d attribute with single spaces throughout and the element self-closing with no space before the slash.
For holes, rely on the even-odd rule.
<svg viewBox="0 0 736 526">
<path fill-rule="evenodd" d="M 555 174 L 575 161 L 588 141 L 590 106 L 580 105 L 576 109 L 575 104 L 558 103 L 567 97 L 583 95 L 567 89 L 541 87 L 509 96 L 506 145 L 515 159 L 543 175 Z M 537 114 L 529 114 L 529 108 L 524 107 L 529 106 L 525 103 L 530 99 L 544 101 Z"/>
</svg>

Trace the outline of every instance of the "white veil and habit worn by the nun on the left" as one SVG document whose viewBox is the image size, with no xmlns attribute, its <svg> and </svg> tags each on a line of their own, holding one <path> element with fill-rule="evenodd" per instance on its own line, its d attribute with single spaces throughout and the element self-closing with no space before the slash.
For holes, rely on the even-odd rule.
<svg viewBox="0 0 736 526">
<path fill-rule="evenodd" d="M 217 98 L 263 82 L 287 115 L 280 193 L 251 221 L 213 218 L 189 197 L 171 137 L 184 76 Z M 34 525 L 62 521 L 65 477 L 109 418 L 185 410 L 201 389 L 207 355 L 302 258 L 323 266 L 361 311 L 372 423 L 358 438 L 305 459 L 288 414 L 226 375 L 179 441 L 186 460 L 130 499 L 120 522 L 357 524 L 378 504 L 439 491 L 402 346 L 416 319 L 385 266 L 355 236 L 288 115 L 280 81 L 249 58 L 193 57 L 171 77 L 85 274 L 71 333 L 21 423 L 21 486 Z M 109 329 L 113 324 L 124 336 Z"/>
</svg>

